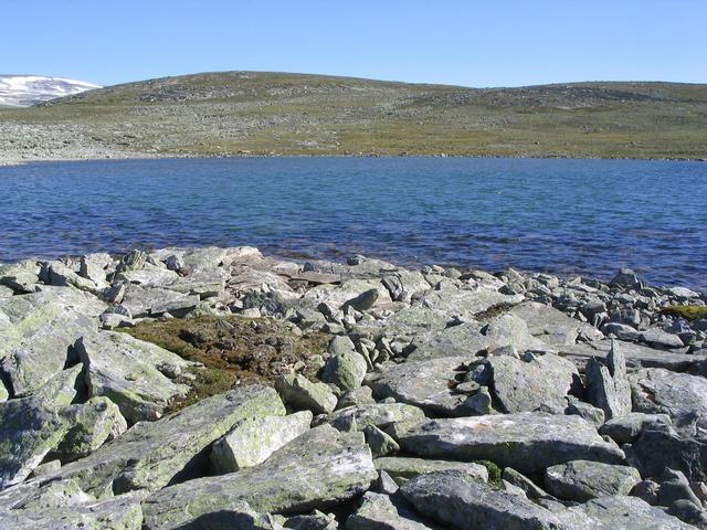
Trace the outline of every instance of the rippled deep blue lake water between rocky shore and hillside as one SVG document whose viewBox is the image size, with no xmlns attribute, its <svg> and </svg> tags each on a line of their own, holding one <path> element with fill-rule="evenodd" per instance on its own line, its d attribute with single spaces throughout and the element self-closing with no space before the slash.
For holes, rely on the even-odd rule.
<svg viewBox="0 0 707 530">
<path fill-rule="evenodd" d="M 0 168 L 0 262 L 168 245 L 707 288 L 707 163 L 243 158 Z"/>
</svg>

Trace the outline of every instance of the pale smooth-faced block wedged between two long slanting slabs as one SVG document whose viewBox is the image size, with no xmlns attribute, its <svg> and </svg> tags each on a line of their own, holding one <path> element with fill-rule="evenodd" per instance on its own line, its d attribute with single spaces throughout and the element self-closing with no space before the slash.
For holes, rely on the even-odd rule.
<svg viewBox="0 0 707 530">
<path fill-rule="evenodd" d="M 211 468 L 234 473 L 265 462 L 275 451 L 309 430 L 312 412 L 288 416 L 246 417 L 211 448 Z"/>
</svg>

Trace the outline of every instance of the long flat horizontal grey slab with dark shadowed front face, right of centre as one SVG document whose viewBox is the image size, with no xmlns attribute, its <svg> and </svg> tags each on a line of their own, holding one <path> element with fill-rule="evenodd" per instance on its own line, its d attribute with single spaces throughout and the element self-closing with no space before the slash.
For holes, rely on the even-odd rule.
<svg viewBox="0 0 707 530">
<path fill-rule="evenodd" d="M 392 436 L 412 454 L 455 460 L 490 460 L 536 473 L 570 460 L 622 464 L 624 455 L 579 416 L 518 414 L 394 424 Z"/>
</svg>

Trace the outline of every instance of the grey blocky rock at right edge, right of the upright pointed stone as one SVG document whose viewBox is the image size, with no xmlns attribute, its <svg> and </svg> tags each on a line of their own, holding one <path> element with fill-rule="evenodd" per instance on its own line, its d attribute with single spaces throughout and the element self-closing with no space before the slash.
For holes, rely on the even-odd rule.
<svg viewBox="0 0 707 530">
<path fill-rule="evenodd" d="M 707 379 L 650 368 L 630 374 L 629 380 L 634 411 L 667 414 L 674 421 L 697 414 L 697 424 L 707 426 Z"/>
</svg>

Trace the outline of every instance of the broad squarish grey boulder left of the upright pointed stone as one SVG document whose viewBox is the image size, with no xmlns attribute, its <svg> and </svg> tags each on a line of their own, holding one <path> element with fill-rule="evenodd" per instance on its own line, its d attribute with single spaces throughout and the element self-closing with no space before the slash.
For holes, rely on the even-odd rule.
<svg viewBox="0 0 707 530">
<path fill-rule="evenodd" d="M 563 413 L 567 395 L 581 389 L 577 367 L 552 353 L 526 354 L 521 359 L 495 356 L 472 365 L 495 399 L 494 405 L 504 413 L 531 412 L 540 406 Z"/>
</svg>

